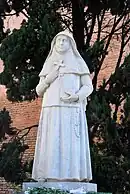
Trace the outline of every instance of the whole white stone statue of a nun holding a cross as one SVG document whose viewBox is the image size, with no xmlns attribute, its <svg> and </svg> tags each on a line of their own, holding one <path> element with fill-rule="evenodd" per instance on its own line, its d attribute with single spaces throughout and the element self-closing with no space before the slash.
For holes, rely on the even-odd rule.
<svg viewBox="0 0 130 194">
<path fill-rule="evenodd" d="M 32 178 L 92 179 L 85 107 L 93 86 L 89 69 L 68 31 L 52 40 L 36 92 L 43 97 Z"/>
</svg>

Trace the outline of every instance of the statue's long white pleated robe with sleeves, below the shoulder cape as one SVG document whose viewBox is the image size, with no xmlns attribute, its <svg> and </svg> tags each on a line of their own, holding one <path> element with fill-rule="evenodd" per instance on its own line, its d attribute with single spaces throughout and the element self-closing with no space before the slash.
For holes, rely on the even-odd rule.
<svg viewBox="0 0 130 194">
<path fill-rule="evenodd" d="M 92 81 L 89 75 L 74 75 L 79 101 L 67 104 L 60 100 L 63 77 L 59 76 L 48 89 L 42 78 L 36 88 L 37 93 L 44 96 L 32 178 L 89 181 L 92 171 L 84 107 L 86 97 L 93 90 Z"/>
</svg>

